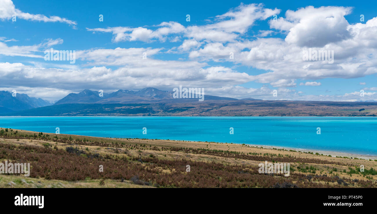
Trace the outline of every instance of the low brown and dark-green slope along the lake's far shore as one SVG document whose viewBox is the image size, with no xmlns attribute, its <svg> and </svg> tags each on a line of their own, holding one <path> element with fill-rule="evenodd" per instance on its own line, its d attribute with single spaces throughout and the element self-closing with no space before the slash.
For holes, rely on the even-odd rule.
<svg viewBox="0 0 377 214">
<path fill-rule="evenodd" d="M 365 109 L 359 111 L 359 109 Z M 186 103 L 65 103 L 0 116 L 377 116 L 377 102 L 207 100 Z"/>
</svg>

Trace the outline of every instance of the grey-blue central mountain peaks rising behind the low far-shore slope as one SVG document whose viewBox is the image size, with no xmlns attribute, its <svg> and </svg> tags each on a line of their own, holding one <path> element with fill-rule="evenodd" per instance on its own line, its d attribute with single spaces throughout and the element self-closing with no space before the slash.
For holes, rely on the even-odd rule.
<svg viewBox="0 0 377 214">
<path fill-rule="evenodd" d="M 251 98 L 252 99 L 252 98 Z M 238 100 L 230 97 L 204 95 L 204 100 Z M 140 91 L 118 90 L 110 94 L 98 91 L 84 90 L 80 93 L 70 93 L 54 105 L 66 103 L 182 103 L 198 102 L 198 98 L 173 98 L 172 91 L 161 91 L 157 88 L 144 88 Z"/>
</svg>

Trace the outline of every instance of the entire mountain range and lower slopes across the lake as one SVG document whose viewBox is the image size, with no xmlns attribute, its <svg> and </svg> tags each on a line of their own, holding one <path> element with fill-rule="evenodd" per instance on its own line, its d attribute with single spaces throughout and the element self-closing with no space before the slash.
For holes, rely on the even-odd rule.
<svg viewBox="0 0 377 214">
<path fill-rule="evenodd" d="M 83 90 L 54 104 L 16 95 L 0 91 L 0 116 L 377 116 L 374 100 L 287 101 L 204 95 L 199 102 L 199 98 L 173 98 L 173 91 L 156 88 L 109 94 Z"/>
</svg>

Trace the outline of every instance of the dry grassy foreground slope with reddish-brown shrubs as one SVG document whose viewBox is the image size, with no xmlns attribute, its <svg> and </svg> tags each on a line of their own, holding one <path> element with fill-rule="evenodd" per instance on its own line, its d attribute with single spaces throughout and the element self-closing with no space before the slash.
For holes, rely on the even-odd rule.
<svg viewBox="0 0 377 214">
<path fill-rule="evenodd" d="M 377 187 L 374 160 L 229 143 L 0 128 L 0 162 L 6 160 L 30 163 L 31 173 L 0 174 L 0 188 Z M 258 164 L 264 161 L 290 163 L 290 176 L 259 173 Z"/>
</svg>

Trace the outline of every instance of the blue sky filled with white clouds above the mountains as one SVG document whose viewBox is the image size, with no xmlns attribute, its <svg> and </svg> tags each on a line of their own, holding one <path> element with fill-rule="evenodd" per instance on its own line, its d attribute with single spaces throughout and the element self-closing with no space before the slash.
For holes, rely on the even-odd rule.
<svg viewBox="0 0 377 214">
<path fill-rule="evenodd" d="M 377 100 L 376 8 L 358 1 L 0 0 L 0 90 L 56 101 L 84 89 L 182 85 L 235 98 Z M 75 51 L 75 63 L 46 61 L 51 48 Z M 309 48 L 333 51 L 333 63 L 303 60 Z"/>
</svg>

